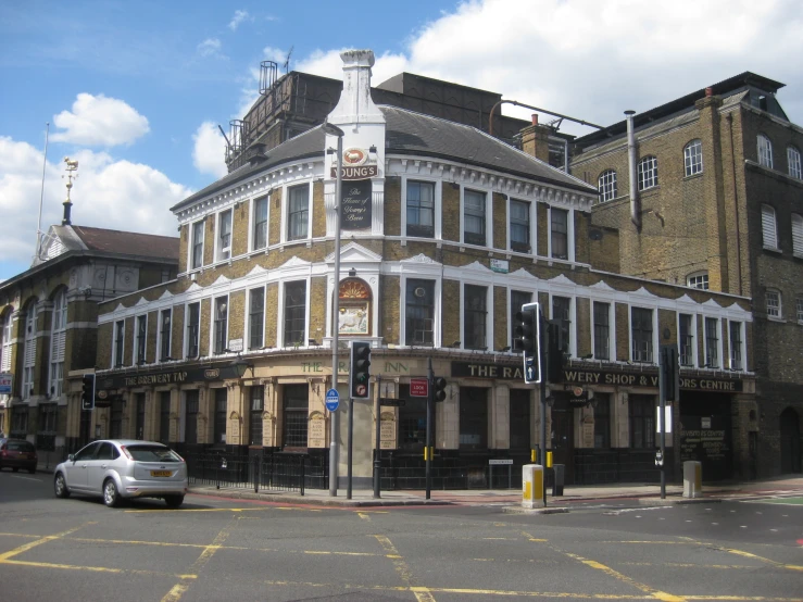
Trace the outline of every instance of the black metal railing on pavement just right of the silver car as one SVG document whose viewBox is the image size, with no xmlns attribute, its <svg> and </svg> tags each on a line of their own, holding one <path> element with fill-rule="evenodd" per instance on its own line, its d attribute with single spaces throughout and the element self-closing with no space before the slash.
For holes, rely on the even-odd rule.
<svg viewBox="0 0 803 602">
<path fill-rule="evenodd" d="M 184 455 L 190 485 L 215 486 L 269 491 L 294 491 L 304 494 L 305 453 L 265 451 L 259 455 L 224 453 L 189 453 Z"/>
</svg>

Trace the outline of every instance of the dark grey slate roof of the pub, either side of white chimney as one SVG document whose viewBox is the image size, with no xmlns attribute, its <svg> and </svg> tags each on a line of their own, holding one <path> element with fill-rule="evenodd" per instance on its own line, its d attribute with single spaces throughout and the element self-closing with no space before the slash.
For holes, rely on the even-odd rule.
<svg viewBox="0 0 803 602">
<path fill-rule="evenodd" d="M 565 188 L 597 195 L 597 188 L 535 156 L 519 151 L 476 127 L 450 122 L 401 109 L 380 105 L 386 118 L 386 151 L 388 154 L 422 154 L 463 162 L 477 167 L 538 179 Z M 179 211 L 195 201 L 234 185 L 249 176 L 289 161 L 324 155 L 325 135 L 321 126 L 291 138 L 271 149 L 267 160 L 244 165 L 217 181 L 187 197 L 171 208 Z"/>
</svg>

